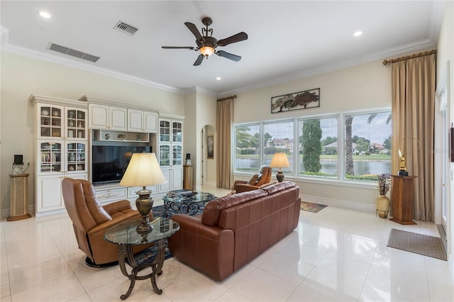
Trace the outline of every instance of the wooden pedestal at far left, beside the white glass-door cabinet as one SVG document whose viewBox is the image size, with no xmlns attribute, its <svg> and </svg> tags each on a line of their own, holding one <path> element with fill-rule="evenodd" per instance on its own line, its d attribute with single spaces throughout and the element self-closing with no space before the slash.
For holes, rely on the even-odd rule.
<svg viewBox="0 0 454 302">
<path fill-rule="evenodd" d="M 10 174 L 11 198 L 8 221 L 31 218 L 28 214 L 28 175 Z"/>
</svg>

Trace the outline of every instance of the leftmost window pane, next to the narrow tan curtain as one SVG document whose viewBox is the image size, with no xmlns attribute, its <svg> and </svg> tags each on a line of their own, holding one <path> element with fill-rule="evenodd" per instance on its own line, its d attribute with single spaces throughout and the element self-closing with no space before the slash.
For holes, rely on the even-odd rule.
<svg viewBox="0 0 454 302">
<path fill-rule="evenodd" d="M 255 125 L 235 126 L 235 170 L 257 172 L 260 161 L 260 127 Z"/>
</svg>

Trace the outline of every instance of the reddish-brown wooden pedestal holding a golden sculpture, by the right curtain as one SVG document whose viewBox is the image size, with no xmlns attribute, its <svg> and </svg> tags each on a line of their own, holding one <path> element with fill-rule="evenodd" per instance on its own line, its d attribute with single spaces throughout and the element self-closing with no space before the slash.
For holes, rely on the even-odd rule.
<svg viewBox="0 0 454 302">
<path fill-rule="evenodd" d="M 392 175 L 392 218 L 389 218 L 389 220 L 401 225 L 417 224 L 413 221 L 413 183 L 415 178 L 412 176 Z"/>
</svg>

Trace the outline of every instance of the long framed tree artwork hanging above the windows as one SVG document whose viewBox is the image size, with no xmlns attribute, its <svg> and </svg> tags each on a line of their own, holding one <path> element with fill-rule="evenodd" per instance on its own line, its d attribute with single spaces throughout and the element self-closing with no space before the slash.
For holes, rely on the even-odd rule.
<svg viewBox="0 0 454 302">
<path fill-rule="evenodd" d="M 320 107 L 320 88 L 273 96 L 271 113 Z"/>
</svg>

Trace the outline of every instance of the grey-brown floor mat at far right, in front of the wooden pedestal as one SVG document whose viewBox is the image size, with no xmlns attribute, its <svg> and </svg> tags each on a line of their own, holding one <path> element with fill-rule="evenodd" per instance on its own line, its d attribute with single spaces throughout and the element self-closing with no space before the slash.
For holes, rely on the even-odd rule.
<svg viewBox="0 0 454 302">
<path fill-rule="evenodd" d="M 387 246 L 427 257 L 448 260 L 440 237 L 411 233 L 393 228 L 389 234 Z"/>
</svg>

